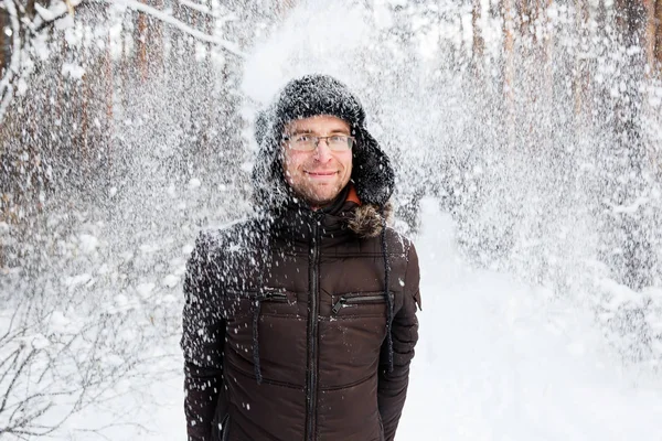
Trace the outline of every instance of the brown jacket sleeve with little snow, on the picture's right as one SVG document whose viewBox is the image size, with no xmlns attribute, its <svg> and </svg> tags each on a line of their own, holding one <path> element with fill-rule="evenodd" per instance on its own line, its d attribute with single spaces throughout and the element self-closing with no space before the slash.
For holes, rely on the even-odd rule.
<svg viewBox="0 0 662 441">
<path fill-rule="evenodd" d="M 395 438 L 395 431 L 407 396 L 409 363 L 414 358 L 414 347 L 418 341 L 416 308 L 420 306 L 419 279 L 418 256 L 414 244 L 412 244 L 407 256 L 403 305 L 395 313 L 391 327 L 393 372 L 388 372 L 387 341 L 382 345 L 380 359 L 377 402 L 386 441 L 393 441 Z"/>
</svg>

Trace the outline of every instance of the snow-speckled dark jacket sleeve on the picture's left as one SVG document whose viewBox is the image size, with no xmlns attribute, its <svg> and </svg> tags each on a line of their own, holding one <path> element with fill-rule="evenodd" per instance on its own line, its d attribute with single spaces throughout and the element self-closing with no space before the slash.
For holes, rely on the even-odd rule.
<svg viewBox="0 0 662 441">
<path fill-rule="evenodd" d="M 223 387 L 225 323 L 216 303 L 209 240 L 200 235 L 186 263 L 181 347 L 184 353 L 184 413 L 189 441 L 212 440 Z"/>
</svg>

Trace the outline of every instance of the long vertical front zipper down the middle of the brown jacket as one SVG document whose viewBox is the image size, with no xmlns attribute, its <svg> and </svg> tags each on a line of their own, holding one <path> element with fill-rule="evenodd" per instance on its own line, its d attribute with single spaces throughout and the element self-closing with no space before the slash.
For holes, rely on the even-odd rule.
<svg viewBox="0 0 662 441">
<path fill-rule="evenodd" d="M 318 334 L 318 294 L 319 294 L 319 219 L 318 216 L 312 218 L 312 247 L 311 247 L 311 266 L 309 270 L 310 278 L 310 311 L 308 312 L 308 409 L 306 421 L 306 439 L 314 441 L 316 417 L 317 417 L 317 334 Z"/>
</svg>

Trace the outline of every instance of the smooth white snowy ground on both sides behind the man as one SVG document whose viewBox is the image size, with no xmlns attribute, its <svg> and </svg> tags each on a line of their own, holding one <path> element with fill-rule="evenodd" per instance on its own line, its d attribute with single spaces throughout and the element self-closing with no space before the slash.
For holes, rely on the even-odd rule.
<svg viewBox="0 0 662 441">
<path fill-rule="evenodd" d="M 621 367 L 579 309 L 470 269 L 449 216 L 433 201 L 423 209 L 424 311 L 398 440 L 662 440 L 662 380 Z M 127 392 L 108 415 L 95 410 L 70 427 L 129 419 L 139 426 L 106 430 L 107 439 L 185 438 L 181 376 Z"/>
</svg>

